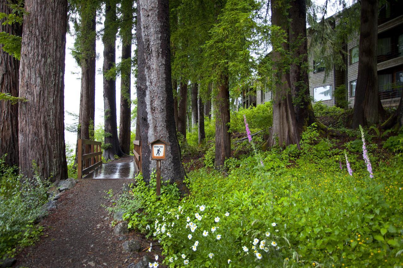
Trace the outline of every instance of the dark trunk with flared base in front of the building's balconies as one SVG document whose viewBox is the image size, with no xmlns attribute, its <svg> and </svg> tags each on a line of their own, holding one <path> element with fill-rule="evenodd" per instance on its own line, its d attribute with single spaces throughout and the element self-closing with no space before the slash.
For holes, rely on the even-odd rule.
<svg viewBox="0 0 403 268">
<path fill-rule="evenodd" d="M 351 126 L 377 124 L 384 116 L 378 95 L 376 44 L 378 43 L 378 0 L 362 0 L 359 34 L 357 87 Z"/>
</svg>

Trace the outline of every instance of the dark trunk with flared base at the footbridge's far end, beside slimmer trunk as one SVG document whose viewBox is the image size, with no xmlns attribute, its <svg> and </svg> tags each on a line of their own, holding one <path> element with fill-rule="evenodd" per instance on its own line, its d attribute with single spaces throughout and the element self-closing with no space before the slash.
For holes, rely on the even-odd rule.
<svg viewBox="0 0 403 268">
<path fill-rule="evenodd" d="M 118 127 L 116 122 L 116 81 L 107 78 L 105 73 L 115 63 L 116 43 L 116 1 L 107 0 L 105 4 L 105 31 L 102 41 L 104 43 L 104 113 L 105 113 L 105 138 L 104 138 L 104 159 L 114 159 L 114 156 L 123 156 L 119 146 Z"/>
</svg>

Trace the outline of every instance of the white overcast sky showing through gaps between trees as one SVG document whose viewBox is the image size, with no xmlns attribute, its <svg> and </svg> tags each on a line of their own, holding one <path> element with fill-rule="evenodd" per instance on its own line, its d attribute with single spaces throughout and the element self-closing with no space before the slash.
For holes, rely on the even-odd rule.
<svg viewBox="0 0 403 268">
<path fill-rule="evenodd" d="M 347 0 L 351 4 L 352 0 Z M 323 5 L 325 0 L 314 0 L 317 5 Z M 332 4 L 333 3 L 333 4 Z M 339 5 L 334 4 L 334 0 L 329 0 L 328 13 L 326 17 L 331 16 L 335 12 L 339 11 Z M 104 19 L 101 19 L 103 22 Z M 103 25 L 97 25 L 97 31 L 102 29 Z M 74 44 L 74 37 L 67 34 L 66 35 L 66 70 L 64 74 L 64 111 L 69 111 L 73 113 L 79 113 L 80 105 L 80 91 L 81 91 L 81 68 L 77 66 L 73 56 L 71 56 L 71 48 Z M 134 55 L 135 46 L 132 45 L 132 56 Z M 95 78 L 95 126 L 98 124 L 104 124 L 104 97 L 103 97 L 103 77 L 102 77 L 102 64 L 104 61 L 103 57 L 104 46 L 101 40 L 96 41 L 96 52 L 98 60 L 96 61 L 96 78 Z M 120 62 L 122 56 L 122 45 L 118 38 L 116 40 L 116 62 Z M 132 73 L 131 78 L 131 99 L 136 98 L 135 94 L 135 78 Z M 119 112 L 120 112 L 120 77 L 116 78 L 116 115 L 117 122 L 119 126 Z M 132 107 L 133 109 L 133 107 Z M 64 125 L 72 124 L 73 118 L 64 113 Z M 64 131 L 64 138 L 66 143 L 71 144 L 75 147 L 77 142 L 77 134 Z"/>
</svg>

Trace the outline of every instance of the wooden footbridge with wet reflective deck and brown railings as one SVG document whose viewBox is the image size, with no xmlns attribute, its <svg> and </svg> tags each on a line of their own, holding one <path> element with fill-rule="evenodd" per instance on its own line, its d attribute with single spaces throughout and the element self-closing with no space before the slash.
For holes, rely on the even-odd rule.
<svg viewBox="0 0 403 268">
<path fill-rule="evenodd" d="M 141 171 L 141 142 L 135 140 L 133 144 L 133 159 L 103 164 L 101 142 L 78 139 L 77 178 L 133 179 Z"/>
</svg>

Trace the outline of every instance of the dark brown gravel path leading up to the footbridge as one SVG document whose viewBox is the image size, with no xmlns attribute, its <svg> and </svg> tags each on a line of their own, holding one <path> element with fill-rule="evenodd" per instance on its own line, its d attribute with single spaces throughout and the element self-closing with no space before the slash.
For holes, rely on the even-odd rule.
<svg viewBox="0 0 403 268">
<path fill-rule="evenodd" d="M 154 246 L 153 252 L 147 252 L 150 241 L 142 235 L 131 232 L 119 240 L 110 227 L 112 217 L 102 207 L 110 206 L 106 192 L 112 189 L 116 194 L 123 183 L 130 181 L 80 180 L 62 194 L 56 210 L 41 223 L 44 234 L 34 246 L 23 249 L 14 267 L 127 267 L 146 253 L 152 258 L 154 254 L 160 255 Z M 122 243 L 133 238 L 142 243 L 140 253 L 122 252 Z"/>
</svg>

